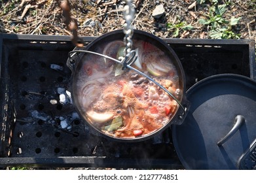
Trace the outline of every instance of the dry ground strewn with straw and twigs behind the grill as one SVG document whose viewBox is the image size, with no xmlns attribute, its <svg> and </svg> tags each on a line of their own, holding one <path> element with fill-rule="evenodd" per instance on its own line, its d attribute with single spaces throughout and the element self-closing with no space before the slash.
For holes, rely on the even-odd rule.
<svg viewBox="0 0 256 183">
<path fill-rule="evenodd" d="M 122 15 L 125 1 L 84 0 L 69 1 L 70 14 L 78 22 L 79 36 L 98 37 L 109 31 L 122 29 Z M 157 5 L 164 6 L 164 14 L 153 18 Z M 200 24 L 200 20 L 210 20 L 211 7 L 226 5 L 221 15 L 225 21 L 240 18 L 230 31 L 238 37 L 230 39 L 256 38 L 256 1 L 246 0 L 134 0 L 136 14 L 134 29 L 153 33 L 161 38 L 210 39 L 210 31 L 215 25 Z M 64 24 L 62 9 L 54 0 L 0 1 L 0 32 L 33 35 L 72 35 Z M 170 26 L 171 25 L 171 26 Z M 192 29 L 187 29 L 187 25 Z M 221 24 L 219 27 L 223 27 Z"/>
</svg>

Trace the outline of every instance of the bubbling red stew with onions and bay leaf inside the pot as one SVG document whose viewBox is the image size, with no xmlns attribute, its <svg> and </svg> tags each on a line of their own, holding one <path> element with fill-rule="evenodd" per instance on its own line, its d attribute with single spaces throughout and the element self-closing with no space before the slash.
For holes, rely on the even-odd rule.
<svg viewBox="0 0 256 183">
<path fill-rule="evenodd" d="M 113 41 L 94 51 L 118 59 L 123 47 L 122 41 Z M 132 66 L 180 99 L 182 91 L 172 60 L 149 42 L 134 41 L 134 50 L 136 48 L 141 64 Z M 121 66 L 94 54 L 84 56 L 75 93 L 82 115 L 109 136 L 134 138 L 149 135 L 172 120 L 179 106 L 168 93 L 135 71 L 115 75 L 120 74 L 117 67 Z"/>
</svg>

